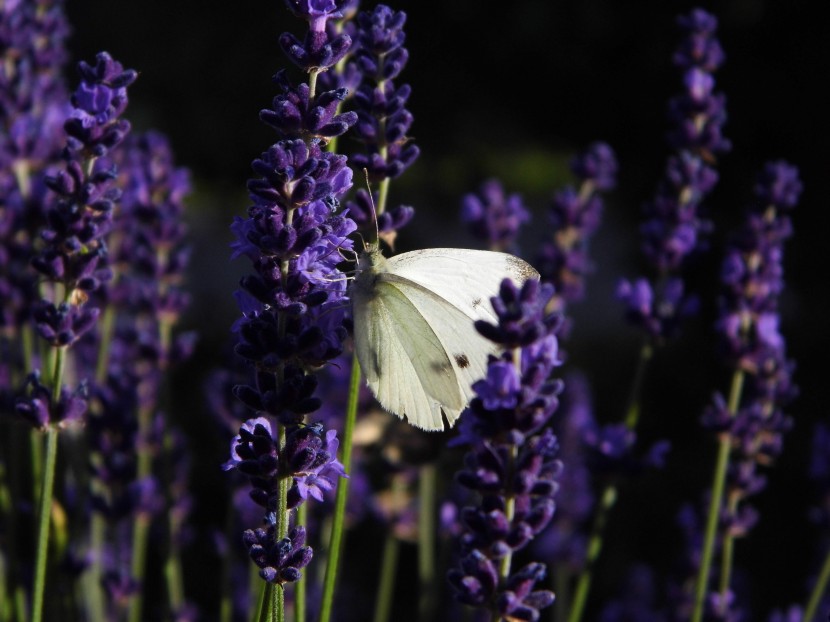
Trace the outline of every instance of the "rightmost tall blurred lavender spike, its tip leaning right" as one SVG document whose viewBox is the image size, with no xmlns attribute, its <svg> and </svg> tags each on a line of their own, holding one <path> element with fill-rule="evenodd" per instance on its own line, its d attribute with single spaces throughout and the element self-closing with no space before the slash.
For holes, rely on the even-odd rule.
<svg viewBox="0 0 830 622">
<path fill-rule="evenodd" d="M 761 468 L 774 463 L 791 427 L 784 409 L 797 391 L 794 364 L 787 359 L 779 332 L 778 300 L 784 286 L 784 242 L 792 234 L 789 212 L 800 192 L 795 167 L 768 163 L 758 178 L 756 201 L 744 226 L 732 236 L 723 261 L 717 330 L 733 369 L 733 388 L 729 400 L 715 395 L 703 425 L 731 448 L 725 500 L 713 495 L 710 501 L 710 514 L 717 512 L 719 517 L 719 545 L 724 549 L 757 522 L 758 512 L 748 500 L 766 487 Z M 741 387 L 737 393 L 736 383 Z M 700 582 L 709 578 L 705 570 L 708 567 L 701 568 Z M 707 607 L 717 619 L 740 614 L 742 603 L 733 584 L 730 575 L 721 577 L 720 588 L 707 593 Z"/>
</svg>

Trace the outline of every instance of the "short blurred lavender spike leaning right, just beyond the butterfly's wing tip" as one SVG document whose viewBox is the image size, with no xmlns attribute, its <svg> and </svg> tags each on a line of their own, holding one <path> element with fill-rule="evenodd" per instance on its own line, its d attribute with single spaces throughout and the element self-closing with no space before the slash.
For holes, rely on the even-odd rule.
<svg viewBox="0 0 830 622">
<path fill-rule="evenodd" d="M 573 158 L 571 171 L 580 186 L 568 186 L 554 195 L 550 210 L 553 234 L 543 242 L 535 264 L 542 281 L 555 288 L 557 310 L 584 296 L 585 278 L 592 270 L 588 247 L 602 219 L 600 193 L 616 186 L 617 160 L 610 146 L 598 142 Z"/>
</svg>

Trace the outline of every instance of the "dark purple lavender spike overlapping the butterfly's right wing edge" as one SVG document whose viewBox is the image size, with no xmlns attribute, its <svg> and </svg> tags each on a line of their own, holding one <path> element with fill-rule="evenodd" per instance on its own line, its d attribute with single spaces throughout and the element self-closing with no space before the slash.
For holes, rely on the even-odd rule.
<svg viewBox="0 0 830 622">
<path fill-rule="evenodd" d="M 560 320 L 545 307 L 552 288 L 509 280 L 492 299 L 498 324 L 477 322 L 482 335 L 507 351 L 491 356 L 487 377 L 462 417 L 459 441 L 470 445 L 457 479 L 478 492 L 480 505 L 461 512 L 461 560 L 448 579 L 456 597 L 508 619 L 536 620 L 553 594 L 537 590 L 544 564 L 510 570 L 550 522 L 561 464 L 558 443 L 546 428 L 558 406 L 561 382 L 550 379 L 560 364 L 556 330 Z"/>
</svg>

